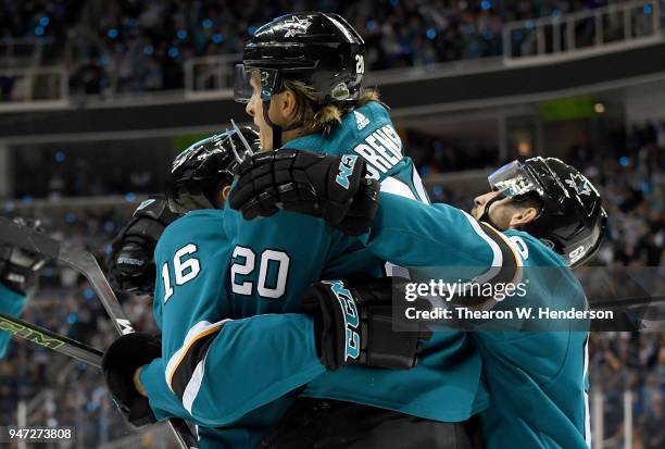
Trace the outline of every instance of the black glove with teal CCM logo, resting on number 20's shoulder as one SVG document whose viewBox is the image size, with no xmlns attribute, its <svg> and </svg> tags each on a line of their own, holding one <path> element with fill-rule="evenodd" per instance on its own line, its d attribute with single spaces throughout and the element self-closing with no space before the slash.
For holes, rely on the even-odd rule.
<svg viewBox="0 0 665 449">
<path fill-rule="evenodd" d="M 360 235 L 369 228 L 378 210 L 378 182 L 365 174 L 365 161 L 357 155 L 264 152 L 240 165 L 229 205 L 246 220 L 285 209 L 323 217 L 346 234 Z"/>
</svg>

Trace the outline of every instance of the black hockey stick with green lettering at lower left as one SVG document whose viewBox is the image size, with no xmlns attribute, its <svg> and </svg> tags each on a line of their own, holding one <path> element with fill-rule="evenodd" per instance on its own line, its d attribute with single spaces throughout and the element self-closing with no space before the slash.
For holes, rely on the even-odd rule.
<svg viewBox="0 0 665 449">
<path fill-rule="evenodd" d="M 72 357 L 101 369 L 103 352 L 36 324 L 0 312 L 0 329 L 43 348 Z"/>
</svg>

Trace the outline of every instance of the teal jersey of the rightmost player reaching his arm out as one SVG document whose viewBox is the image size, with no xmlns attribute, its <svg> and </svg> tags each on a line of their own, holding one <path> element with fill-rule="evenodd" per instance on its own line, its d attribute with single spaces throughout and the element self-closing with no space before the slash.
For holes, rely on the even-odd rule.
<svg viewBox="0 0 665 449">
<path fill-rule="evenodd" d="M 526 296 L 518 299 L 524 305 L 554 311 L 587 308 L 577 278 L 538 239 L 518 230 L 500 233 L 446 204 L 423 205 L 381 195 L 367 248 L 416 275 L 419 272 L 423 279 L 431 277 L 437 266 L 461 267 L 467 278 L 515 279 L 519 273 L 527 285 Z M 494 307 L 501 303 L 495 301 Z M 550 332 L 499 328 L 469 335 L 482 356 L 490 394 L 490 406 L 480 414 L 487 448 L 590 446 L 588 332 L 559 323 Z"/>
</svg>

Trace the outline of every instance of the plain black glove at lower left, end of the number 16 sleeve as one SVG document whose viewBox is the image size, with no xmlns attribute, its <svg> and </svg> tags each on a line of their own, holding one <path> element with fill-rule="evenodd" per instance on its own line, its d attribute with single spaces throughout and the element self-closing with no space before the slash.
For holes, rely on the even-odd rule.
<svg viewBox="0 0 665 449">
<path fill-rule="evenodd" d="M 123 335 L 111 344 L 102 359 L 106 387 L 120 412 L 140 427 L 156 422 L 148 398 L 134 386 L 137 369 L 162 357 L 162 338 L 143 332 Z"/>
</svg>

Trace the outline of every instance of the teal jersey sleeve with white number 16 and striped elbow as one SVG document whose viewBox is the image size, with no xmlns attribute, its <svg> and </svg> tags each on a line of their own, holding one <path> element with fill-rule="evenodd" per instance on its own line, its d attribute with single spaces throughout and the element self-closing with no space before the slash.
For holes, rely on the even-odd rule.
<svg viewBox="0 0 665 449">
<path fill-rule="evenodd" d="M 155 414 L 184 409 L 204 426 L 233 423 L 325 370 L 309 317 L 242 317 L 230 304 L 224 274 L 231 251 L 222 217 L 223 211 L 190 212 L 162 235 L 153 308 L 163 353 L 141 373 Z"/>
</svg>

